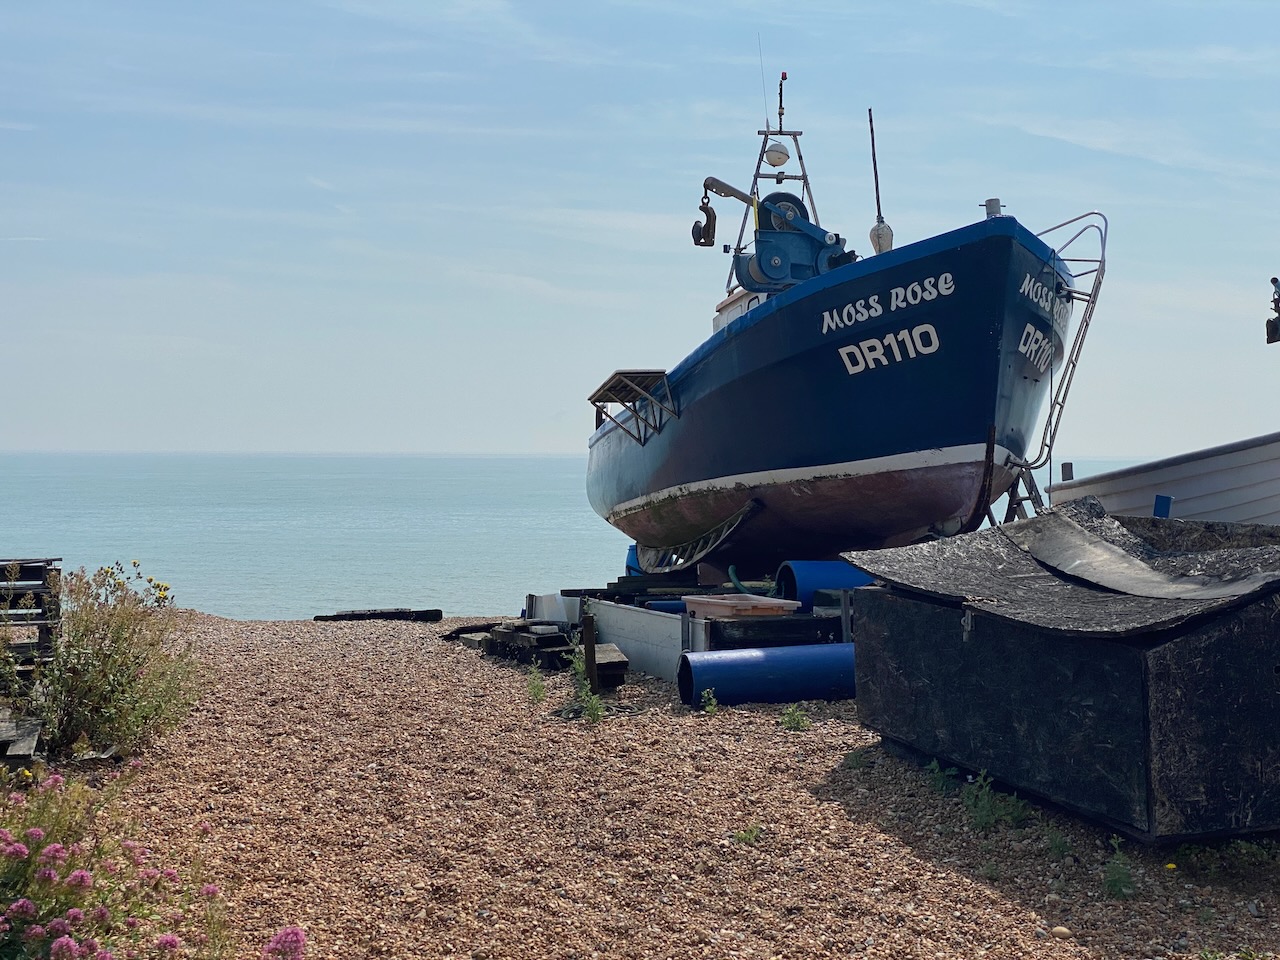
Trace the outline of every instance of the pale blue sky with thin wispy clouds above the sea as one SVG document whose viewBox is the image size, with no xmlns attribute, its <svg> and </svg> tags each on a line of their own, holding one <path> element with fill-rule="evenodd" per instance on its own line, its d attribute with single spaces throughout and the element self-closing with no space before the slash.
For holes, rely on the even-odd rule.
<svg viewBox="0 0 1280 960">
<path fill-rule="evenodd" d="M 861 252 L 868 108 L 899 247 L 1106 214 L 1057 460 L 1280 429 L 1272 0 L 0 0 L 0 451 L 585 453 L 781 70 Z"/>
</svg>

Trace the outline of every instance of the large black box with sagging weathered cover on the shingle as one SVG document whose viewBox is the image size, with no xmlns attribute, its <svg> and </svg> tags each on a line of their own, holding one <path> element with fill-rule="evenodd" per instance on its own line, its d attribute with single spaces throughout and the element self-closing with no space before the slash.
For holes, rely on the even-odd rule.
<svg viewBox="0 0 1280 960">
<path fill-rule="evenodd" d="M 1280 828 L 1280 527 L 1084 499 L 846 558 L 868 727 L 1148 840 Z"/>
</svg>

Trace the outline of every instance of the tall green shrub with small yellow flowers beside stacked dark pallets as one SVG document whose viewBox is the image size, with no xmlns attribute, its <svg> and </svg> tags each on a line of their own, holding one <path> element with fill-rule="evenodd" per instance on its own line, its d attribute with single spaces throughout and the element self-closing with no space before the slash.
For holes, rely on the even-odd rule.
<svg viewBox="0 0 1280 960">
<path fill-rule="evenodd" d="M 115 746 L 131 753 L 177 723 L 198 694 L 198 666 L 174 632 L 168 584 L 137 561 L 63 577 L 63 621 L 31 710 L 51 755 Z"/>
</svg>

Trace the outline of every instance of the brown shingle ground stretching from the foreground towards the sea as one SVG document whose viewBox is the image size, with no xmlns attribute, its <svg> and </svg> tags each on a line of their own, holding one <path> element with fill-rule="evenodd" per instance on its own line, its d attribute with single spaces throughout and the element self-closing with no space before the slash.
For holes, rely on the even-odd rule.
<svg viewBox="0 0 1280 960">
<path fill-rule="evenodd" d="M 852 703 L 788 732 L 781 707 L 695 714 L 634 676 L 639 713 L 564 722 L 566 677 L 534 707 L 522 669 L 439 639 L 462 622 L 193 620 L 214 684 L 125 804 L 156 850 L 198 854 L 241 956 L 285 924 L 312 959 L 1280 948 L 1274 864 L 1210 882 L 1125 845 L 1137 896 L 1111 900 L 1103 831 L 972 832 Z"/>
</svg>

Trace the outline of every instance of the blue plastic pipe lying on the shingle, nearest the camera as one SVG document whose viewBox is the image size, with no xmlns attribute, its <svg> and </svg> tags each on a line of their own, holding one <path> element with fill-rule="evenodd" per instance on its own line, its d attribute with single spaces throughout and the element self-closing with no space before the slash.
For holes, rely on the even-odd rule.
<svg viewBox="0 0 1280 960">
<path fill-rule="evenodd" d="M 719 704 L 849 700 L 854 696 L 854 645 L 804 644 L 748 650 L 682 653 L 680 699 L 699 707 L 710 690 Z"/>
</svg>

